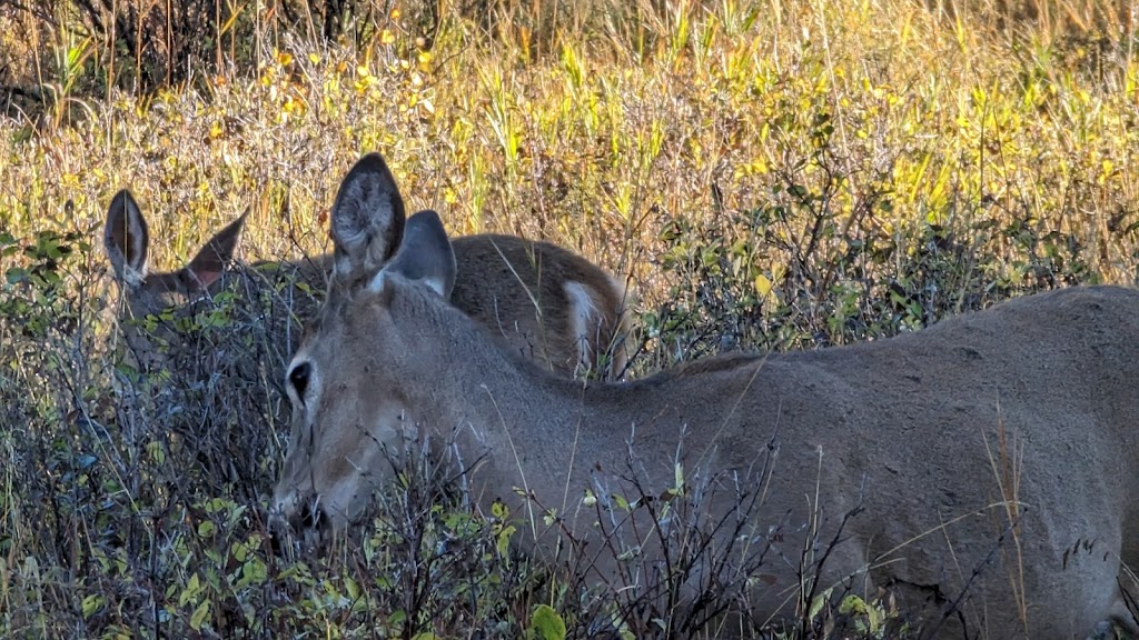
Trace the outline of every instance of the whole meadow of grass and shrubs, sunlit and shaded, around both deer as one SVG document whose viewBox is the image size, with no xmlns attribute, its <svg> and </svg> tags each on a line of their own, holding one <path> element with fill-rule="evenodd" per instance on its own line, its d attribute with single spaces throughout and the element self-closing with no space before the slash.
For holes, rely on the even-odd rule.
<svg viewBox="0 0 1139 640">
<path fill-rule="evenodd" d="M 513 530 L 410 471 L 361 540 L 281 557 L 287 354 L 240 380 L 272 407 L 232 377 L 141 375 L 101 241 L 122 188 L 155 270 L 246 213 L 241 261 L 295 260 L 330 248 L 336 188 L 378 150 L 451 233 L 547 239 L 625 279 L 630 377 L 1139 278 L 1128 2 L 259 3 L 178 50 L 83 6 L 0 1 L 3 637 L 724 633 L 667 593 L 526 566 Z M 243 322 L 219 300 L 182 328 L 241 359 Z M 244 460 L 203 462 L 187 424 Z M 826 600 L 778 637 L 906 637 L 888 600 Z"/>
</svg>

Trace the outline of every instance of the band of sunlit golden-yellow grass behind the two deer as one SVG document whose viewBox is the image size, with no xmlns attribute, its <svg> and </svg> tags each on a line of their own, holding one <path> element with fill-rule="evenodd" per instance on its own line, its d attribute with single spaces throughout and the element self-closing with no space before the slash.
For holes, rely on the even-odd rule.
<svg viewBox="0 0 1139 640">
<path fill-rule="evenodd" d="M 1111 55 L 1025 41 L 1044 34 L 1008 42 L 907 3 L 681 3 L 658 19 L 667 38 L 652 55 L 603 36 L 527 61 L 451 24 L 431 51 L 399 35 L 366 58 L 296 46 L 252 79 L 82 98 L 72 126 L 9 118 L 0 207 L 21 235 L 93 228 L 129 186 L 167 239 L 161 264 L 245 207 L 247 255 L 318 252 L 339 174 L 379 149 L 415 206 L 457 232 L 579 247 L 647 280 L 652 304 L 649 256 L 629 246 L 658 247 L 670 218 L 763 206 L 785 177 L 820 180 L 811 156 L 827 145 L 844 174 L 839 224 L 872 188 L 891 211 L 859 223 L 882 233 L 1019 216 L 1100 247 L 1104 279 L 1132 276 L 1133 239 L 1106 229 L 1136 208 L 1125 42 Z"/>
</svg>

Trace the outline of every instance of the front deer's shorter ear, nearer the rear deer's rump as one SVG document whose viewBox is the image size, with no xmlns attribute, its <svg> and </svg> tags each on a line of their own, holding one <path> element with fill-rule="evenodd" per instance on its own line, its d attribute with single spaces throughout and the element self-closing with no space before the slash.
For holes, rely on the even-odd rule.
<svg viewBox="0 0 1139 640">
<path fill-rule="evenodd" d="M 400 251 L 372 279 L 369 288 L 383 292 L 388 274 L 399 274 L 413 282 L 423 282 L 443 300 L 451 300 L 457 271 L 454 249 L 446 237 L 446 229 L 434 211 L 421 211 L 408 220 Z"/>
</svg>

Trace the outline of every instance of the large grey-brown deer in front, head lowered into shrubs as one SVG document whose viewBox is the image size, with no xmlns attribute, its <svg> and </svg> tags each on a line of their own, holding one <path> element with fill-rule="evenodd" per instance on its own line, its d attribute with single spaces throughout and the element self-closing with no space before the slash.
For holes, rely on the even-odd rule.
<svg viewBox="0 0 1139 640">
<path fill-rule="evenodd" d="M 361 161 L 330 212 L 328 297 L 285 372 L 281 535 L 363 526 L 426 451 L 467 508 L 507 507 L 522 552 L 595 584 L 665 575 L 663 542 L 639 532 L 670 535 L 667 500 L 700 497 L 723 525 L 708 549 L 760 561 L 674 577 L 688 602 L 743 584 L 756 630 L 880 589 L 918 638 L 1136 632 L 1139 292 L 1059 289 L 886 339 L 582 383 L 449 304 L 462 265 L 439 215 L 392 232 L 390 189 Z"/>
</svg>

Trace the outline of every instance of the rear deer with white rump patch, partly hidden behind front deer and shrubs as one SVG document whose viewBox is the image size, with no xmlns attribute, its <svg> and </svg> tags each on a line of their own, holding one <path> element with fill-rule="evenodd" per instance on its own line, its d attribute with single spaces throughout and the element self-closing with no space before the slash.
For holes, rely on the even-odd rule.
<svg viewBox="0 0 1139 640">
<path fill-rule="evenodd" d="M 398 214 L 382 230 L 360 230 L 361 238 L 394 238 L 388 252 L 369 256 L 376 266 L 398 248 L 404 223 L 403 200 L 384 171 L 387 205 Z M 237 482 L 256 495 L 271 489 L 276 473 L 264 473 L 263 458 L 270 469 L 279 463 L 278 433 L 287 432 L 279 371 L 337 257 L 235 262 L 245 221 L 229 223 L 182 268 L 150 272 L 148 225 L 124 189 L 110 200 L 104 246 L 121 292 L 120 335 L 139 375 L 124 386 L 131 402 L 123 407 L 137 410 L 123 409 L 120 421 L 137 424 L 138 433 L 162 425 L 198 460 L 203 482 Z M 631 314 L 620 280 L 551 243 L 485 233 L 454 246 L 466 277 L 451 302 L 506 348 L 567 378 L 622 376 Z"/>
</svg>

